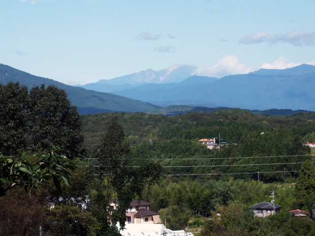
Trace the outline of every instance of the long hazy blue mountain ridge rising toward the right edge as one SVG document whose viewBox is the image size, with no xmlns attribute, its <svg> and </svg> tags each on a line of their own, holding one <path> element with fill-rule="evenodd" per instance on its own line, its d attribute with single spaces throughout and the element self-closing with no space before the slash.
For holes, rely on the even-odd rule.
<svg viewBox="0 0 315 236">
<path fill-rule="evenodd" d="M 303 74 L 305 73 L 305 74 Z M 197 79 L 197 80 L 196 80 Z M 208 81 L 194 77 L 196 81 Z M 242 109 L 292 109 L 315 111 L 315 66 L 300 65 L 285 70 L 258 70 L 230 75 L 210 83 L 145 85 L 114 94 L 164 105 L 240 107 Z"/>
</svg>

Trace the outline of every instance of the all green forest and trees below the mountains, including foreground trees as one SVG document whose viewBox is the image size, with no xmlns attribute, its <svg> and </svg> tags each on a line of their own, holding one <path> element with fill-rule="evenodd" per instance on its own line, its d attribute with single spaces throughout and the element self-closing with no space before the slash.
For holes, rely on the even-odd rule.
<svg viewBox="0 0 315 236">
<path fill-rule="evenodd" d="M 315 151 L 303 145 L 315 143 L 314 113 L 78 116 L 56 87 L 11 83 L 0 92 L 0 235 L 37 235 L 42 226 L 117 236 L 132 198 L 150 202 L 167 228 L 201 236 L 315 234 L 313 221 L 289 214 L 314 208 Z M 249 207 L 273 191 L 281 211 L 253 217 Z M 77 207 L 85 199 L 87 208 Z"/>
</svg>

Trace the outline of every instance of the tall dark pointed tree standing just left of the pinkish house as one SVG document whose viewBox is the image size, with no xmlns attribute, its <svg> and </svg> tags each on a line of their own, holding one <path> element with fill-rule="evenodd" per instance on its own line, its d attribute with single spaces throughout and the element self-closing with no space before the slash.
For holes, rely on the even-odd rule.
<svg viewBox="0 0 315 236">
<path fill-rule="evenodd" d="M 123 126 L 114 116 L 100 147 L 95 150 L 103 185 L 95 186 L 97 194 L 91 197 L 90 208 L 101 223 L 98 235 L 119 235 L 117 223 L 120 227 L 125 226 L 126 210 L 132 199 L 140 195 L 146 184 L 154 183 L 160 176 L 161 166 L 156 163 L 142 164 L 137 169 L 127 166 L 129 154 L 130 145 L 125 139 Z M 116 210 L 109 208 L 109 202 L 116 198 L 119 207 Z"/>
</svg>

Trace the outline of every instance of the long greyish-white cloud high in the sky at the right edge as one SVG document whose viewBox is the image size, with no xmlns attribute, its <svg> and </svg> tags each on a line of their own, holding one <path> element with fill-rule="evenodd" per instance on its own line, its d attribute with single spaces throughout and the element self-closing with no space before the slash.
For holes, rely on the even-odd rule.
<svg viewBox="0 0 315 236">
<path fill-rule="evenodd" d="M 255 44 L 261 42 L 274 43 L 289 43 L 293 46 L 312 46 L 315 44 L 315 31 L 305 32 L 302 30 L 293 30 L 285 34 L 270 35 L 266 32 L 258 32 L 255 34 L 248 34 L 241 38 L 242 44 Z"/>
</svg>

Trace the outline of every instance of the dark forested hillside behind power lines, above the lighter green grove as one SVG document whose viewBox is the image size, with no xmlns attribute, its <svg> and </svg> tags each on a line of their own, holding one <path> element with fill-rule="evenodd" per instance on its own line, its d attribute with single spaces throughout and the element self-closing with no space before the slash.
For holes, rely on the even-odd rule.
<svg viewBox="0 0 315 236">
<path fill-rule="evenodd" d="M 226 174 L 234 173 L 233 178 L 257 179 L 259 172 L 260 180 L 283 181 L 297 176 L 301 163 L 310 158 L 311 149 L 302 143 L 314 140 L 312 113 L 271 117 L 235 109 L 175 117 L 117 115 L 132 145 L 132 157 L 155 159 L 169 175 L 194 174 L 203 178 L 211 174 L 211 178 L 224 179 Z M 106 113 L 81 117 L 87 154 L 99 142 L 112 116 Z M 209 150 L 198 143 L 204 138 L 216 138 L 219 143 L 219 135 L 220 143 L 227 143 L 220 149 Z M 137 161 L 132 164 L 137 165 Z"/>
</svg>

